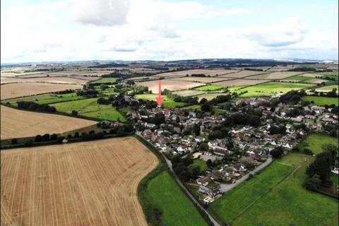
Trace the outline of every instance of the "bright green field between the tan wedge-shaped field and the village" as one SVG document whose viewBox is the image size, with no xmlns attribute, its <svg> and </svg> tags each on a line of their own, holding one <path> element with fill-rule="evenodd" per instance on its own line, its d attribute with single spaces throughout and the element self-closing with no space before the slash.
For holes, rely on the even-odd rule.
<svg viewBox="0 0 339 226">
<path fill-rule="evenodd" d="M 79 115 L 86 117 L 93 117 L 96 119 L 105 119 L 110 121 L 126 121 L 125 117 L 118 112 L 112 105 L 98 105 L 97 98 L 90 98 L 85 100 L 76 100 L 70 102 L 61 102 L 53 104 L 58 112 L 66 112 L 71 114 L 76 110 Z"/>
</svg>

